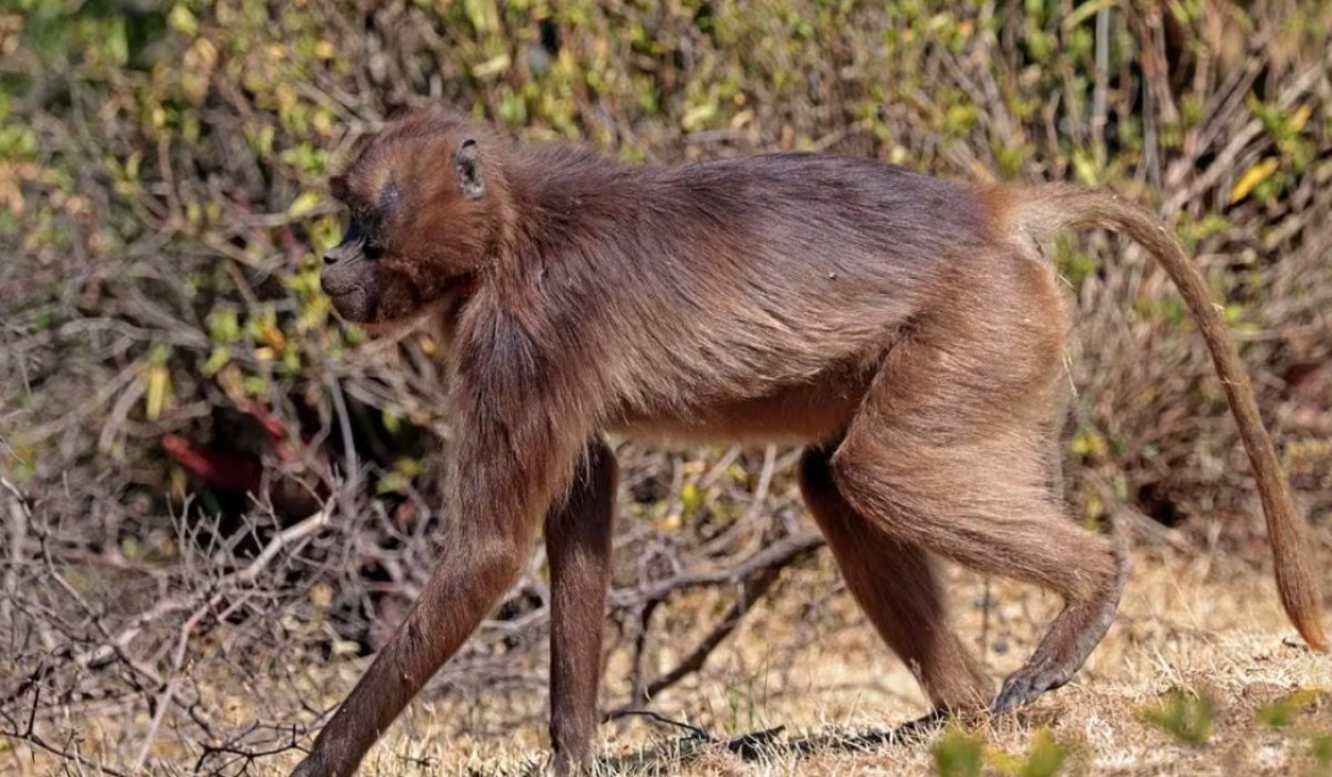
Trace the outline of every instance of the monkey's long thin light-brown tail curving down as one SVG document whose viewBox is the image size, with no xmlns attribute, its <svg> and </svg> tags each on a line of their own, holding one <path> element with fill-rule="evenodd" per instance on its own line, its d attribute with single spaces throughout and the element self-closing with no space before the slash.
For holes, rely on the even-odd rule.
<svg viewBox="0 0 1332 777">
<path fill-rule="evenodd" d="M 1012 200 L 999 197 L 996 201 L 1012 203 L 1010 223 L 1039 245 L 1047 245 L 1055 232 L 1066 228 L 1102 227 L 1122 232 L 1139 243 L 1169 275 L 1212 353 L 1253 466 L 1272 542 L 1281 604 L 1304 641 L 1319 652 L 1327 652 L 1321 598 L 1303 524 L 1277 464 L 1272 440 L 1259 416 L 1257 398 L 1240 361 L 1239 348 L 1225 327 L 1220 307 L 1212 301 L 1203 273 L 1188 259 L 1183 244 L 1154 213 L 1107 189 L 1051 184 L 1018 191 L 1015 195 Z"/>
</svg>

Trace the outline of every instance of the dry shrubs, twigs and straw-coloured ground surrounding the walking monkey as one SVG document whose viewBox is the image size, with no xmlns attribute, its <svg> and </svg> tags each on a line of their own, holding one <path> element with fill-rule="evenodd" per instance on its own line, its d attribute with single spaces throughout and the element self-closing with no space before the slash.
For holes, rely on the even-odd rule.
<svg viewBox="0 0 1332 777">
<path fill-rule="evenodd" d="M 1114 187 L 1227 300 L 1332 558 L 1329 28 L 1319 0 L 4 0 L 0 770 L 281 773 L 410 602 L 449 520 L 437 344 L 368 343 L 317 281 L 329 173 L 409 107 L 631 161 L 814 149 Z M 603 726 L 642 756 L 613 769 L 1332 764 L 1327 666 L 1288 641 L 1173 289 L 1106 235 L 1056 259 L 1078 299 L 1071 512 L 1130 526 L 1139 569 L 1083 680 L 858 750 L 856 726 L 923 706 L 819 549 L 793 452 L 621 441 L 602 705 L 661 717 Z M 1054 605 L 950 574 L 999 676 Z M 543 576 L 538 553 L 368 770 L 541 757 Z"/>
</svg>

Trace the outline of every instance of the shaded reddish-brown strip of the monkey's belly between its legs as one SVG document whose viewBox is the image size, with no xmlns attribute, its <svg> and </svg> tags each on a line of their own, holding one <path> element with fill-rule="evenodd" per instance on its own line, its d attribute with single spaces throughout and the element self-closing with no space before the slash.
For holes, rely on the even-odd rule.
<svg viewBox="0 0 1332 777">
<path fill-rule="evenodd" d="M 842 434 L 855 414 L 864 392 L 859 384 L 825 380 L 678 413 L 630 410 L 611 424 L 611 430 L 637 440 L 686 445 L 826 442 Z"/>
</svg>

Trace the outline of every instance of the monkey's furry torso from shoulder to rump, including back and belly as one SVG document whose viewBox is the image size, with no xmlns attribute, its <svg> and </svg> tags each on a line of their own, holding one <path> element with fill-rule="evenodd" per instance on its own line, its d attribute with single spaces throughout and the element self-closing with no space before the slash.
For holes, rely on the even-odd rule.
<svg viewBox="0 0 1332 777">
<path fill-rule="evenodd" d="M 569 312 L 551 331 L 570 348 L 599 352 L 607 414 L 633 433 L 825 437 L 984 244 L 971 189 L 876 161 L 581 161 L 547 164 L 531 203 L 541 285 L 567 297 L 545 308 Z"/>
</svg>

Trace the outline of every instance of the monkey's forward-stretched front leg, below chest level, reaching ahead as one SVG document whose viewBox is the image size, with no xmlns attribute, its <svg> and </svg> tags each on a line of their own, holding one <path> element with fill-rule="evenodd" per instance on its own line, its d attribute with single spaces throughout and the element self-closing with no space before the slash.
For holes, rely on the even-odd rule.
<svg viewBox="0 0 1332 777">
<path fill-rule="evenodd" d="M 458 456 L 460 464 L 468 461 L 466 452 Z M 503 477 L 503 472 L 517 477 Z M 549 504 L 541 489 L 518 485 L 542 480 L 533 474 L 519 462 L 485 456 L 453 472 L 453 524 L 442 558 L 408 617 L 292 777 L 348 777 L 356 772 L 370 745 L 513 585 Z"/>
</svg>

